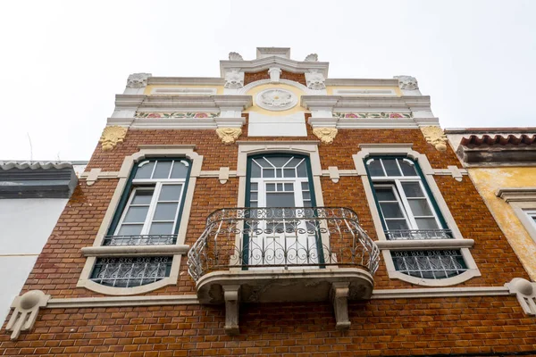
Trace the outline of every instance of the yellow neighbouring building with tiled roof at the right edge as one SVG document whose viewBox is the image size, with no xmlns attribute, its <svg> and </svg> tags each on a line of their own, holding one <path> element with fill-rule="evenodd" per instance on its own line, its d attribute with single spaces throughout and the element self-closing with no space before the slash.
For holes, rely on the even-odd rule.
<svg viewBox="0 0 536 357">
<path fill-rule="evenodd" d="M 536 280 L 536 128 L 446 133 L 524 268 Z"/>
</svg>

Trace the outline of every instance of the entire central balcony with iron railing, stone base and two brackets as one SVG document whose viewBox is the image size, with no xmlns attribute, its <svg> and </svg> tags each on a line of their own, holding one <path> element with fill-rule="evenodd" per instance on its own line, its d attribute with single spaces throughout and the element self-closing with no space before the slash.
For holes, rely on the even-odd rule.
<svg viewBox="0 0 536 357">
<path fill-rule="evenodd" d="M 188 252 L 188 273 L 201 303 L 226 304 L 230 334 L 239 303 L 331 300 L 344 329 L 348 299 L 370 298 L 379 260 L 347 208 L 224 208 Z"/>
</svg>

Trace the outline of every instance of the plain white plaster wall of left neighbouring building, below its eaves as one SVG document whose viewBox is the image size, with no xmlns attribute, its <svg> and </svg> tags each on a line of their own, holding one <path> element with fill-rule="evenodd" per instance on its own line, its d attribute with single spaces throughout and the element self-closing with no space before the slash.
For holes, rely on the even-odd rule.
<svg viewBox="0 0 536 357">
<path fill-rule="evenodd" d="M 0 321 L 41 253 L 63 208 L 63 198 L 0 200 Z"/>
</svg>

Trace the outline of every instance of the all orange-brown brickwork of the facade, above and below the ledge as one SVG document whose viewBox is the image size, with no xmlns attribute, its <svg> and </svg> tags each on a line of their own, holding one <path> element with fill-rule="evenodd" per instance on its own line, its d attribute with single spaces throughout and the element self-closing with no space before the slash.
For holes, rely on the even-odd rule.
<svg viewBox="0 0 536 357">
<path fill-rule="evenodd" d="M 239 140 L 318 140 L 307 126 L 307 137 L 247 137 Z M 450 147 L 438 152 L 418 129 L 341 129 L 332 145 L 320 145 L 322 169 L 355 169 L 352 154 L 363 143 L 413 143 L 431 166 L 445 169 L 459 163 Z M 238 145 L 222 145 L 214 130 L 129 130 L 124 143 L 111 152 L 100 145 L 88 165 L 119 170 L 125 156 L 138 145 L 196 145 L 204 156 L 202 170 L 222 166 L 236 170 Z M 434 179 L 465 238 L 475 241 L 471 252 L 482 272 L 458 286 L 502 286 L 511 278 L 528 278 L 506 238 L 493 220 L 470 179 L 448 176 Z M 43 253 L 29 275 L 24 291 L 40 289 L 56 297 L 101 296 L 76 283 L 86 259 L 80 248 L 93 245 L 117 179 L 99 179 L 88 187 L 80 180 Z M 205 229 L 206 217 L 222 207 L 236 207 L 239 179 L 222 185 L 217 178 L 199 178 L 195 187 L 186 243 L 192 245 Z M 339 183 L 322 178 L 327 206 L 357 212 L 369 235 L 376 238 L 369 203 L 358 177 Z M 376 288 L 412 288 L 389 279 L 383 263 Z M 176 286 L 164 286 L 147 295 L 194 294 L 186 271 L 186 257 Z M 240 311 L 239 336 L 223 333 L 222 306 L 178 305 L 93 309 L 53 309 L 39 313 L 36 326 L 9 341 L 0 332 L 0 355 L 180 356 L 180 355 L 430 355 L 432 353 L 491 353 L 536 350 L 535 320 L 521 311 L 515 296 L 437 299 L 391 299 L 350 303 L 352 327 L 334 329 L 328 303 L 251 304 Z"/>
</svg>

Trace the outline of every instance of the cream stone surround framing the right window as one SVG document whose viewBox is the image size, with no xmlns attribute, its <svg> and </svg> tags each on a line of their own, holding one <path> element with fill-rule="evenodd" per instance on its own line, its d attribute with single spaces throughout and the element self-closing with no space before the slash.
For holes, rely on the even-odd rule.
<svg viewBox="0 0 536 357">
<path fill-rule="evenodd" d="M 420 286 L 453 286 L 463 283 L 464 281 L 480 277 L 482 274 L 476 263 L 473 260 L 469 248 L 473 246 L 473 239 L 465 239 L 459 228 L 456 225 L 454 217 L 448 209 L 448 205 L 441 195 L 440 188 L 438 187 L 435 179 L 433 178 L 434 170 L 431 168 L 431 164 L 426 158 L 426 155 L 420 154 L 413 150 L 412 144 L 361 144 L 359 145 L 360 151 L 357 154 L 352 155 L 354 164 L 356 165 L 357 175 L 361 176 L 361 180 L 364 186 L 364 192 L 369 203 L 369 208 L 373 216 L 373 224 L 376 229 L 376 235 L 378 241 L 376 244 L 381 249 L 383 260 L 385 262 L 389 278 L 396 278 Z M 383 231 L 383 225 L 381 224 L 381 214 L 378 212 L 376 206 L 376 200 L 373 195 L 373 187 L 368 177 L 368 172 L 365 167 L 365 160 L 371 155 L 398 155 L 406 156 L 419 164 L 419 167 L 423 173 L 423 180 L 430 188 L 431 195 L 435 199 L 438 205 L 439 213 L 445 219 L 448 229 L 452 232 L 454 239 L 411 239 L 411 240 L 388 240 L 385 237 Z M 389 179 L 389 178 L 387 178 Z M 426 192 L 424 190 L 424 192 Z M 442 278 L 442 279 L 430 279 L 430 278 L 416 278 L 403 274 L 395 269 L 393 259 L 391 257 L 391 251 L 405 251 L 405 250 L 448 250 L 459 249 L 464 257 L 467 270 L 456 277 Z"/>
</svg>

